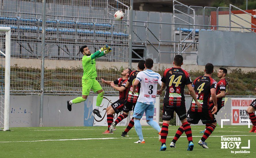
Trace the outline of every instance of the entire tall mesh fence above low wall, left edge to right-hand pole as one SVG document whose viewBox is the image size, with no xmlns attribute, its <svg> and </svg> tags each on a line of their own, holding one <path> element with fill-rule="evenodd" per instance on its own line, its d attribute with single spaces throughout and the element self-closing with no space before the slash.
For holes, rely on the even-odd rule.
<svg viewBox="0 0 256 158">
<path fill-rule="evenodd" d="M 65 63 L 82 59 L 82 45 L 88 45 L 92 53 L 105 44 L 111 45 L 113 53 L 96 61 L 125 62 L 128 66 L 130 0 L 43 2 L 0 2 L 0 26 L 12 28 L 11 56 L 20 58 L 21 63 L 33 63 L 33 67 L 12 67 L 11 93 L 81 93 L 81 63 L 74 68 Z M 117 10 L 125 13 L 122 21 L 113 18 Z M 98 76 L 115 80 L 119 73 L 119 69 L 108 67 L 99 70 Z M 116 93 L 108 85 L 102 87 L 106 93 Z"/>
</svg>

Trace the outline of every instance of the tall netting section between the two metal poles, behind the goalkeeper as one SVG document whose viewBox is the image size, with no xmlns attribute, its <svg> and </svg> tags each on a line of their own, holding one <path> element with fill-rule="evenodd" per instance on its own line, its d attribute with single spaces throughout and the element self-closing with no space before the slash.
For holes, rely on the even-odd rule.
<svg viewBox="0 0 256 158">
<path fill-rule="evenodd" d="M 96 80 L 105 93 L 117 93 L 111 86 L 102 84 L 100 78 L 113 81 L 120 77 L 122 66 L 128 67 L 129 5 L 130 0 L 47 2 L 45 93 L 81 93 L 80 47 L 87 45 L 94 53 L 106 44 L 113 51 L 96 59 Z M 118 10 L 125 13 L 121 21 L 114 20 Z"/>
</svg>

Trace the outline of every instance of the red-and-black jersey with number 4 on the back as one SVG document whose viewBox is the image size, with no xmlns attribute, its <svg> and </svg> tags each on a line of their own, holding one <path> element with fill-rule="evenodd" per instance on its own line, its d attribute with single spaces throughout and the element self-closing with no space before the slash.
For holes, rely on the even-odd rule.
<svg viewBox="0 0 256 158">
<path fill-rule="evenodd" d="M 209 109 L 209 99 L 211 96 L 211 89 L 216 88 L 217 82 L 209 76 L 200 76 L 193 82 L 193 87 L 196 92 L 197 101 L 202 105 L 203 109 Z M 196 102 L 192 99 L 191 111 L 202 112 L 202 109 L 198 109 Z"/>
</svg>

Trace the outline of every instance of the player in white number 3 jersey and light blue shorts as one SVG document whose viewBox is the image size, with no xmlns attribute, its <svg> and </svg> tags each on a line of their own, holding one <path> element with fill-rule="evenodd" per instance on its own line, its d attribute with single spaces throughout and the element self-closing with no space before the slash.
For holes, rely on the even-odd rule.
<svg viewBox="0 0 256 158">
<path fill-rule="evenodd" d="M 160 74 L 151 70 L 153 67 L 152 59 L 146 59 L 145 67 L 146 68 L 144 69 L 144 71 L 141 71 L 137 74 L 137 77 L 133 82 L 132 94 L 134 94 L 137 85 L 139 83 L 141 84 L 140 94 L 133 112 L 135 131 L 139 136 L 139 140 L 134 143 L 145 143 L 140 124 L 140 119 L 142 118 L 144 111 L 146 113 L 147 123 L 154 129 L 156 129 L 158 131 L 158 134 L 160 134 L 161 130 L 159 124 L 153 121 L 157 84 L 162 84 L 161 76 Z"/>
</svg>

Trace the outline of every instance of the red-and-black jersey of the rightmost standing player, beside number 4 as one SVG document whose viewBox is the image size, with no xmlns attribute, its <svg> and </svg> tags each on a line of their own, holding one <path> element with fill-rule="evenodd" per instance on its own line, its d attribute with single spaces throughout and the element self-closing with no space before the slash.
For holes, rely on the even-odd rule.
<svg viewBox="0 0 256 158">
<path fill-rule="evenodd" d="M 223 78 L 219 80 L 216 86 L 216 95 L 220 94 L 221 91 L 225 91 L 225 94 L 228 93 L 228 82 L 226 78 Z M 218 106 L 224 106 L 225 97 L 223 98 L 217 98 L 217 105 Z M 210 103 L 211 105 L 214 105 L 213 102 Z"/>
</svg>

